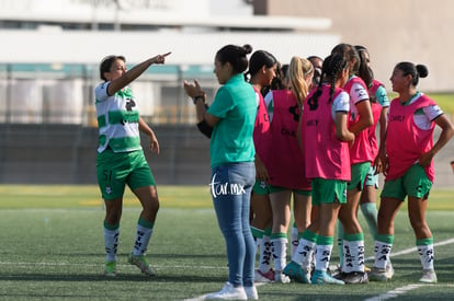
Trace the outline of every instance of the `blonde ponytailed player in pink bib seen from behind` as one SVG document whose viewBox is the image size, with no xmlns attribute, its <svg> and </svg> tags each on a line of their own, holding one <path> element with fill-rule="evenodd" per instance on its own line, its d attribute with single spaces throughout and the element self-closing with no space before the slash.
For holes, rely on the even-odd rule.
<svg viewBox="0 0 454 301">
<path fill-rule="evenodd" d="M 291 200 L 302 232 L 310 223 L 310 182 L 305 177 L 304 158 L 297 138 L 303 102 L 308 94 L 314 67 L 305 58 L 293 57 L 288 68 L 292 90 L 272 91 L 271 153 L 268 160 L 270 200 L 273 211 L 271 243 L 274 250 L 275 282 L 290 282 L 283 268 L 286 265 L 287 230 L 291 221 Z"/>
</svg>

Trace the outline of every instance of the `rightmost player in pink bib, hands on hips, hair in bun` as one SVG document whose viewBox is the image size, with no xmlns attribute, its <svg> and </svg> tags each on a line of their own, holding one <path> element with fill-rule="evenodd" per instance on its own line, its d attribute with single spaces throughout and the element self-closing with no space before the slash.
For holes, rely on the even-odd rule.
<svg viewBox="0 0 454 301">
<path fill-rule="evenodd" d="M 396 65 L 390 77 L 393 91 L 399 95 L 390 103 L 386 141 L 378 153 L 386 178 L 381 195 L 375 239 L 377 252 L 371 280 L 391 278 L 386 264 L 394 242 L 394 219 L 408 196 L 408 216 L 422 264 L 419 281 L 436 282 L 433 236 L 425 221 L 425 209 L 434 180 L 433 157 L 454 135 L 454 127 L 436 103 L 417 90 L 419 79 L 428 74 L 425 66 L 402 61 Z M 435 125 L 441 128 L 441 134 L 433 143 Z"/>
</svg>

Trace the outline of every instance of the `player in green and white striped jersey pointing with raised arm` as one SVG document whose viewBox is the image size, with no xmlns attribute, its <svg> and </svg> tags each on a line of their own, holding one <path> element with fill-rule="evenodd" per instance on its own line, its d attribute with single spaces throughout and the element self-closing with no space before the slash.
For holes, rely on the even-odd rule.
<svg viewBox="0 0 454 301">
<path fill-rule="evenodd" d="M 159 153 L 159 143 L 155 132 L 140 118 L 133 91 L 127 84 L 152 63 L 164 63 L 169 54 L 147 59 L 128 71 L 122 56 L 105 57 L 100 65 L 100 77 L 104 82 L 94 89 L 94 93 L 99 127 L 97 174 L 105 204 L 105 276 L 116 276 L 125 185 L 129 186 L 143 206 L 128 262 L 144 274 L 155 275 L 145 258 L 145 252 L 151 238 L 159 200 L 155 178 L 140 146 L 139 130 L 150 138 L 151 151 Z"/>
</svg>

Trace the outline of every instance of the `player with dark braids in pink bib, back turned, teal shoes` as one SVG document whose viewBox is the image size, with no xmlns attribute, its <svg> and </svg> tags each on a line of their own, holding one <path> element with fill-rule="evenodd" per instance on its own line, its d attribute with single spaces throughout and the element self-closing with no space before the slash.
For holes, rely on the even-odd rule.
<svg viewBox="0 0 454 301">
<path fill-rule="evenodd" d="M 329 56 L 324 61 L 320 83 L 304 102 L 302 131 L 306 143 L 306 175 L 311 178 L 313 205 L 317 217 L 303 233 L 298 248 L 284 273 L 304 283 L 343 285 L 328 273 L 338 213 L 347 202 L 350 181 L 349 143 L 354 135 L 348 129 L 349 94 L 342 86 L 348 77 L 343 56 Z M 307 141 L 317 141 L 308 143 Z M 310 259 L 316 251 L 315 271 L 309 280 Z"/>
</svg>

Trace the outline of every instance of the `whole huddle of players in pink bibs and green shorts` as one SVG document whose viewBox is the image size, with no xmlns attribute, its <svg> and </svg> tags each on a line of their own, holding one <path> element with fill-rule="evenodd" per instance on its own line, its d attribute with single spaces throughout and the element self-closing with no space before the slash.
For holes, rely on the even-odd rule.
<svg viewBox="0 0 454 301">
<path fill-rule="evenodd" d="M 417 91 L 427 67 L 397 63 L 390 82 L 398 96 L 391 102 L 374 79 L 363 46 L 339 44 L 325 60 L 293 57 L 281 68 L 284 72 L 270 78 L 266 70 L 279 67 L 266 51 L 252 54 L 249 66 L 258 100 L 251 196 L 251 230 L 259 252 L 256 281 L 344 285 L 391 279 L 393 221 L 408 196 L 422 264 L 419 280 L 436 282 L 433 236 L 424 212 L 434 180 L 432 159 L 454 130 L 433 100 Z M 442 131 L 433 144 L 435 125 Z M 379 211 L 378 173 L 385 175 Z M 295 224 L 287 263 L 292 195 Z M 372 269 L 364 265 L 359 208 L 375 240 Z M 336 223 L 340 264 L 332 269 Z"/>
</svg>

